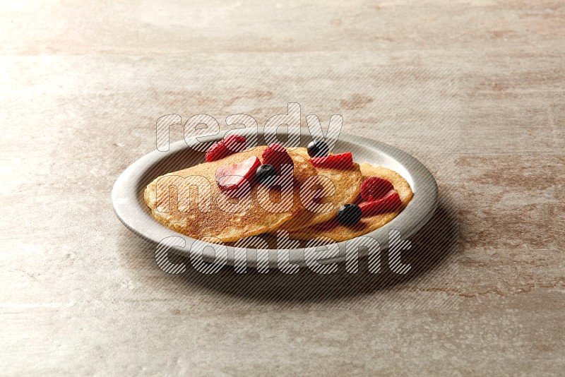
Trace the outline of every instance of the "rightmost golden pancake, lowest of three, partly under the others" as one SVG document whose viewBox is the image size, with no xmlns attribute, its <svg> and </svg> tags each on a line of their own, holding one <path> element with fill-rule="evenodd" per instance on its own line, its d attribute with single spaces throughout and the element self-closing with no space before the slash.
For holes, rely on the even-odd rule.
<svg viewBox="0 0 565 377">
<path fill-rule="evenodd" d="M 400 196 L 400 201 L 402 206 L 398 208 L 395 212 L 391 213 L 379 213 L 372 216 L 362 217 L 359 222 L 355 225 L 341 225 L 336 220 L 331 220 L 323 224 L 316 225 L 314 227 L 309 227 L 307 229 L 300 229 L 295 232 L 290 232 L 290 237 L 292 239 L 303 239 L 309 240 L 316 237 L 329 237 L 333 241 L 346 241 L 347 239 L 352 239 L 355 237 L 362 236 L 369 232 L 374 231 L 385 225 L 387 222 L 393 220 L 394 217 L 400 213 L 400 211 L 405 208 L 405 206 L 412 199 L 412 189 L 408 182 L 391 169 L 386 167 L 375 167 L 371 164 L 362 163 L 359 164 L 361 168 L 361 173 L 363 174 L 363 179 L 367 179 L 371 176 L 379 176 L 380 178 L 387 179 L 391 181 L 396 191 L 398 191 L 398 196 Z M 359 201 L 359 199 L 358 199 Z"/>
</svg>

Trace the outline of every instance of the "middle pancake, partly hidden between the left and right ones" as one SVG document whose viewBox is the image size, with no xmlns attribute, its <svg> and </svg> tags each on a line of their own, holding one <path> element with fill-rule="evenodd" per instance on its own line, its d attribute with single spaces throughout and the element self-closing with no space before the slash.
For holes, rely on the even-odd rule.
<svg viewBox="0 0 565 377">
<path fill-rule="evenodd" d="M 294 152 L 306 159 L 310 158 L 307 148 L 297 148 Z M 324 196 L 317 202 L 320 205 L 326 205 L 326 208 L 323 209 L 323 212 L 316 212 L 316 208 L 303 203 L 307 206 L 307 210 L 285 222 L 283 229 L 292 232 L 331 220 L 337 215 L 343 204 L 353 203 L 359 196 L 363 180 L 359 164 L 356 162 L 349 169 L 316 167 L 316 171 L 318 176 L 329 179 L 335 188 L 332 196 Z M 325 182 L 326 186 L 331 186 L 327 180 Z"/>
</svg>

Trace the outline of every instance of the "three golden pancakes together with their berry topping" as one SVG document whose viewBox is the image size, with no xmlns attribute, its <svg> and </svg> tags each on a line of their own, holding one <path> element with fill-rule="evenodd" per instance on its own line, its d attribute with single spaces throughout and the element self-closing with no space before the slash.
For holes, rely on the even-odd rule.
<svg viewBox="0 0 565 377">
<path fill-rule="evenodd" d="M 345 241 L 391 221 L 412 195 L 397 172 L 329 153 L 323 141 L 247 148 L 237 135 L 214 143 L 206 162 L 159 176 L 144 191 L 157 222 L 213 243 L 278 229 L 292 239 Z"/>
</svg>

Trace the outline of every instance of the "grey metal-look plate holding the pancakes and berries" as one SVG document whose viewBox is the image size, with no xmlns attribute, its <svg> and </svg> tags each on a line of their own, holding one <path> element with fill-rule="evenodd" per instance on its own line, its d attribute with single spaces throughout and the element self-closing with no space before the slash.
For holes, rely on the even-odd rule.
<svg viewBox="0 0 565 377">
<path fill-rule="evenodd" d="M 246 129 L 238 130 L 238 133 L 242 136 L 251 135 L 251 131 Z M 273 133 L 276 133 L 275 128 L 258 128 L 258 145 L 265 144 L 264 135 Z M 217 136 L 207 138 L 207 140 L 221 140 L 223 136 L 224 133 L 220 132 Z M 308 129 L 302 128 L 300 145 L 306 146 L 310 141 L 311 136 Z M 114 210 L 119 220 L 126 227 L 141 237 L 155 242 L 156 245 L 163 239 L 167 239 L 167 237 L 180 237 L 167 239 L 168 244 L 177 245 L 171 246 L 169 251 L 184 256 L 190 256 L 191 253 L 194 253 L 194 255 L 203 256 L 206 261 L 214 261 L 215 256 L 219 253 L 216 261 L 220 261 L 220 264 L 225 262 L 228 265 L 234 265 L 234 255 L 239 258 L 239 256 L 245 255 L 242 253 L 246 252 L 246 265 L 256 267 L 258 253 L 255 250 L 246 251 L 245 249 L 232 246 L 227 246 L 227 248 L 226 246 L 215 246 L 174 232 L 156 222 L 143 201 L 145 186 L 157 176 L 189 167 L 187 162 L 198 164 L 204 161 L 203 152 L 196 152 L 190 148 L 195 143 L 196 140 L 194 138 L 187 139 L 186 141 L 180 140 L 172 143 L 168 152 L 154 150 L 133 162 L 121 173 L 112 189 Z M 342 133 L 335 144 L 333 152 L 347 151 L 353 153 L 356 162 L 369 162 L 395 170 L 405 177 L 412 187 L 412 191 L 414 191 L 412 201 L 408 203 L 407 207 L 394 220 L 376 229 L 374 232 L 366 234 L 367 237 L 373 237 L 379 241 L 381 249 L 388 247 L 389 231 L 398 230 L 402 239 L 406 239 L 417 232 L 432 217 L 437 205 L 437 184 L 432 174 L 421 162 L 391 145 Z M 360 245 L 359 242 L 356 239 L 338 242 L 339 251 L 335 247 L 333 249 L 328 248 L 330 249 L 328 254 L 326 254 L 328 258 L 321 258 L 319 262 L 323 264 L 345 261 L 346 250 L 350 247 L 357 249 Z M 182 245 L 184 247 L 180 247 Z M 221 249 L 218 249 L 219 247 Z M 286 245 L 282 247 L 279 245 L 279 249 L 288 247 Z M 318 249 L 318 251 L 321 251 L 321 249 Z M 226 250 L 227 258 L 220 260 L 220 255 L 225 256 Z M 307 256 L 311 256 L 315 251 L 315 247 L 290 249 L 284 256 L 289 256 L 290 263 L 303 266 L 305 265 L 305 253 L 307 253 Z M 268 253 L 270 265 L 276 265 L 278 258 L 280 258 L 280 251 L 277 249 L 268 249 L 268 251 L 266 249 L 259 249 L 258 252 L 261 253 L 261 256 L 265 256 Z M 360 248 L 359 256 L 364 256 L 367 252 L 367 248 Z"/>
</svg>

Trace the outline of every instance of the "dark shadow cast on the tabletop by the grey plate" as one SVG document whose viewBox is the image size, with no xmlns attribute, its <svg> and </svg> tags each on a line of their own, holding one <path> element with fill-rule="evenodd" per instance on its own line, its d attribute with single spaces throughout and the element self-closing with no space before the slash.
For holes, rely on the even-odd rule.
<svg viewBox="0 0 565 377">
<path fill-rule="evenodd" d="M 401 253 L 402 263 L 411 266 L 405 274 L 393 273 L 388 268 L 388 251 L 381 251 L 379 273 L 370 273 L 368 258 L 361 258 L 358 273 L 347 273 L 345 263 L 340 263 L 338 272 L 328 275 L 313 273 L 307 268 L 301 268 L 292 275 L 272 268 L 268 273 L 258 273 L 253 268 L 248 268 L 246 273 L 236 273 L 232 267 L 225 267 L 218 273 L 206 275 L 196 271 L 189 258 L 170 256 L 172 263 L 186 264 L 184 273 L 170 275 L 157 267 L 155 244 L 152 242 L 124 232 L 124 236 L 118 239 L 118 246 L 120 250 L 131 250 L 134 242 L 132 238 L 137 238 L 138 247 L 130 253 L 124 253 L 125 263 L 137 265 L 138 268 L 141 263 L 143 270 L 153 270 L 153 274 L 158 270 L 160 275 L 155 278 L 160 280 L 160 287 L 172 285 L 177 292 L 179 285 L 189 285 L 191 289 L 209 290 L 254 302 L 333 301 L 371 294 L 378 290 L 393 289 L 437 270 L 458 251 L 457 211 L 450 204 L 440 199 L 432 219 L 410 237 L 411 249 Z M 132 268 L 132 270 L 136 269 Z M 141 271 L 139 274 L 141 275 Z"/>
</svg>

